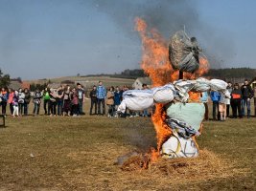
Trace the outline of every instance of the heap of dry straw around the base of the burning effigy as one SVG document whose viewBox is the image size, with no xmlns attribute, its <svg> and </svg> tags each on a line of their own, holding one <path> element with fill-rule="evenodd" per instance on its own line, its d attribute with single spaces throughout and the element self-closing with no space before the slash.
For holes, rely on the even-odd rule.
<svg viewBox="0 0 256 191">
<path fill-rule="evenodd" d="M 246 173 L 246 170 L 235 172 L 234 163 L 221 159 L 219 156 L 208 151 L 200 150 L 198 158 L 187 159 L 158 159 L 151 163 L 149 156 L 142 154 L 134 155 L 127 159 L 122 170 L 151 174 L 156 177 L 169 177 L 175 180 L 210 180 L 216 178 L 232 177 L 238 173 Z M 145 169 L 146 167 L 146 169 Z M 145 169 L 142 171 L 142 169 Z"/>
</svg>

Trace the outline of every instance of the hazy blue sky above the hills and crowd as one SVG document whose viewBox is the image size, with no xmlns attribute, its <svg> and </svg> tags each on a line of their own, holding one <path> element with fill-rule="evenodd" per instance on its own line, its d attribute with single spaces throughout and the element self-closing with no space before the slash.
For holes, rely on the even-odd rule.
<svg viewBox="0 0 256 191">
<path fill-rule="evenodd" d="M 139 68 L 136 15 L 166 38 L 185 25 L 213 68 L 256 68 L 256 1 L 151 2 L 0 0 L 0 68 L 23 79 Z"/>
</svg>

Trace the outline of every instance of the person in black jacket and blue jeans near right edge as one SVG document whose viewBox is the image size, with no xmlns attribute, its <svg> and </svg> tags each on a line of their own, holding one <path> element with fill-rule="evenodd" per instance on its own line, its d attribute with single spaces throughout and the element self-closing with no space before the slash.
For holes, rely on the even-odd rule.
<svg viewBox="0 0 256 191">
<path fill-rule="evenodd" d="M 253 91 L 248 84 L 248 80 L 244 80 L 244 85 L 241 87 L 242 91 L 242 115 L 245 116 L 245 105 L 247 106 L 247 117 L 250 117 L 250 99 L 253 97 Z"/>
</svg>

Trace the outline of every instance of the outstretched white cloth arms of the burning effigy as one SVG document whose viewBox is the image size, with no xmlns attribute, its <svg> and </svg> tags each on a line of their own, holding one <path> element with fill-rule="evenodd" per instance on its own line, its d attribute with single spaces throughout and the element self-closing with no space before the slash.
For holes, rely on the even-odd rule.
<svg viewBox="0 0 256 191">
<path fill-rule="evenodd" d="M 226 97 L 230 94 L 226 90 L 227 83 L 221 79 L 198 78 L 196 80 L 178 80 L 174 84 L 156 87 L 151 90 L 128 90 L 123 94 L 123 101 L 118 107 L 118 112 L 124 113 L 126 108 L 141 111 L 150 108 L 153 103 L 169 103 L 174 99 L 187 102 L 188 92 L 219 91 Z"/>
</svg>

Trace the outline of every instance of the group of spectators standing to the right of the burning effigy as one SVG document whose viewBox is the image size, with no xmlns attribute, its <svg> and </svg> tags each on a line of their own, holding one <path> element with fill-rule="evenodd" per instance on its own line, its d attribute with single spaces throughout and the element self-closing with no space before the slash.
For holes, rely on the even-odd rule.
<svg viewBox="0 0 256 191">
<path fill-rule="evenodd" d="M 230 97 L 226 97 L 219 92 L 202 93 L 201 101 L 205 104 L 206 108 L 205 119 L 209 118 L 208 96 L 211 97 L 213 103 L 212 115 L 214 120 L 224 121 L 226 117 L 251 117 L 250 103 L 252 99 L 254 99 L 254 115 L 256 115 L 256 87 L 252 89 L 247 79 L 244 80 L 244 84 L 241 87 L 238 83 L 232 84 L 228 82 L 227 90 L 230 93 Z"/>
</svg>

